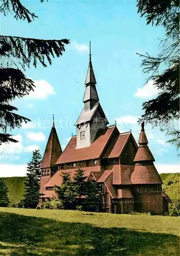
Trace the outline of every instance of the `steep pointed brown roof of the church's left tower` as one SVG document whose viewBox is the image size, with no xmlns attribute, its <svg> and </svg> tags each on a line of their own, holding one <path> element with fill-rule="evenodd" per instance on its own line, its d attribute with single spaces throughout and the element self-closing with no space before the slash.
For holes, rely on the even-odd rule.
<svg viewBox="0 0 180 256">
<path fill-rule="evenodd" d="M 62 153 L 61 145 L 58 139 L 58 134 L 55 127 L 54 115 L 53 115 L 53 126 L 50 131 L 49 138 L 44 151 L 44 156 L 41 162 L 41 168 L 54 167 L 56 161 Z"/>
</svg>

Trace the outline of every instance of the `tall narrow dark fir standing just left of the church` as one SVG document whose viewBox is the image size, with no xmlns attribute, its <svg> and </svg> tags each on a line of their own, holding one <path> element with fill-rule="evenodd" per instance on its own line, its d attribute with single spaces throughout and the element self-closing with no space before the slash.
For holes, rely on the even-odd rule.
<svg viewBox="0 0 180 256">
<path fill-rule="evenodd" d="M 39 202 L 39 189 L 41 178 L 41 155 L 39 150 L 33 151 L 32 161 L 28 163 L 27 180 L 24 182 L 25 192 L 23 206 L 25 208 L 36 208 Z"/>
</svg>

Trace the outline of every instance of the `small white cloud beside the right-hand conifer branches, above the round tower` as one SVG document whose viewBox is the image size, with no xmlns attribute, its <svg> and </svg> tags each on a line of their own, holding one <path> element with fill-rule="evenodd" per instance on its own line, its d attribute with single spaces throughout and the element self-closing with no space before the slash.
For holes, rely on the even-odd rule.
<svg viewBox="0 0 180 256">
<path fill-rule="evenodd" d="M 143 88 L 138 88 L 137 92 L 134 93 L 134 96 L 137 98 L 149 99 L 157 96 L 159 92 L 160 90 L 155 87 L 153 81 L 149 81 L 143 86 Z"/>
</svg>

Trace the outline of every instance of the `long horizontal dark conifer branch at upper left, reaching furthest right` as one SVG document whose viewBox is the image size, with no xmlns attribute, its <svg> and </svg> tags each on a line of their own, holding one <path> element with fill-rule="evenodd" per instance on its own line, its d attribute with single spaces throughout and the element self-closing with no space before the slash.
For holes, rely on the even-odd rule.
<svg viewBox="0 0 180 256">
<path fill-rule="evenodd" d="M 44 40 L 0 35 L 0 56 L 7 59 L 8 64 L 9 62 L 16 63 L 16 66 L 19 64 L 23 69 L 30 68 L 31 62 L 36 68 L 37 61 L 43 67 L 47 67 L 46 62 L 51 65 L 51 58 L 60 57 L 65 51 L 64 45 L 68 44 L 68 39 Z"/>
</svg>

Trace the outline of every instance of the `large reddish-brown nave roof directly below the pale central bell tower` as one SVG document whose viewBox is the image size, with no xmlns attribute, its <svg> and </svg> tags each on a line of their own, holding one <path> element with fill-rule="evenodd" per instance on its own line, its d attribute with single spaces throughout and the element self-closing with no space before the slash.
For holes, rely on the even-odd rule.
<svg viewBox="0 0 180 256">
<path fill-rule="evenodd" d="M 91 145 L 83 148 L 76 149 L 77 138 L 76 136 L 73 136 L 56 164 L 99 158 L 101 153 L 104 151 L 104 148 L 107 145 L 114 129 L 115 125 L 106 127 L 104 129 L 99 129 L 95 140 L 91 143 Z"/>
</svg>

